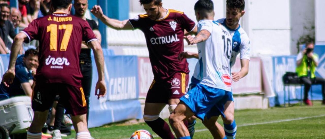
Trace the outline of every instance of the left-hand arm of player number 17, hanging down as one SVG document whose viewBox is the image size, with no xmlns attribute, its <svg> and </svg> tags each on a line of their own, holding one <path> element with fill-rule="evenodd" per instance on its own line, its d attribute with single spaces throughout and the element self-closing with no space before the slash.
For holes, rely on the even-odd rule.
<svg viewBox="0 0 325 139">
<path fill-rule="evenodd" d="M 19 53 L 19 50 L 21 48 L 21 44 L 23 41 L 27 38 L 26 34 L 20 32 L 19 34 L 16 35 L 14 38 L 14 42 L 11 46 L 11 52 L 10 52 L 10 60 L 9 60 L 9 67 L 6 73 L 2 77 L 2 82 L 6 86 L 9 86 L 14 81 L 15 78 L 15 64 L 16 64 L 16 59 Z"/>
</svg>

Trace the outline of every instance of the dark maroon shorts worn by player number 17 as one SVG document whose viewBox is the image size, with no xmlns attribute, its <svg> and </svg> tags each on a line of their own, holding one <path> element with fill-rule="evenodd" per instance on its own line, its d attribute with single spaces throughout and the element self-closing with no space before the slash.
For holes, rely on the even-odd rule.
<svg viewBox="0 0 325 139">
<path fill-rule="evenodd" d="M 56 97 L 60 96 L 67 114 L 72 116 L 87 113 L 86 99 L 82 87 L 76 87 L 64 83 L 36 82 L 32 96 L 32 108 L 34 111 L 48 110 Z"/>
</svg>

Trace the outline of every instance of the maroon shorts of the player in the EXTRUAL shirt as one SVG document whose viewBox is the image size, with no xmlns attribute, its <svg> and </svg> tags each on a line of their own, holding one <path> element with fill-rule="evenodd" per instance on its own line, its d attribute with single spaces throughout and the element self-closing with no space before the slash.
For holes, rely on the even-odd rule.
<svg viewBox="0 0 325 139">
<path fill-rule="evenodd" d="M 181 98 L 187 93 L 189 75 L 183 72 L 175 73 L 165 82 L 153 82 L 150 85 L 146 103 L 166 103 L 169 99 Z"/>
</svg>

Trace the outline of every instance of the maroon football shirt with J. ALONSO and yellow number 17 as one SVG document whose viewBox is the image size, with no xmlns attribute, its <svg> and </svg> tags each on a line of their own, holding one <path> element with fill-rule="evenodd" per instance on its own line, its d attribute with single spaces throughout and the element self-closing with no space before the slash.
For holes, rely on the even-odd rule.
<svg viewBox="0 0 325 139">
<path fill-rule="evenodd" d="M 97 40 L 86 20 L 55 12 L 33 20 L 22 32 L 29 41 L 35 39 L 40 42 L 36 82 L 81 86 L 81 42 Z"/>
</svg>

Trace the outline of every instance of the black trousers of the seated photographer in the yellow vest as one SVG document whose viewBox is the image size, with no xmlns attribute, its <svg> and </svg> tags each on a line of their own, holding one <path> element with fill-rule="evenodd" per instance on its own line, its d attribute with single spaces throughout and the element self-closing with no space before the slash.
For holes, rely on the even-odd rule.
<svg viewBox="0 0 325 139">
<path fill-rule="evenodd" d="M 325 99 L 325 79 L 315 77 L 313 79 L 310 79 L 309 77 L 300 77 L 300 82 L 304 84 L 305 89 L 304 89 L 304 100 L 307 100 L 308 98 L 308 92 L 312 84 L 321 84 L 322 85 L 322 95 L 323 95 L 323 100 Z"/>
</svg>

